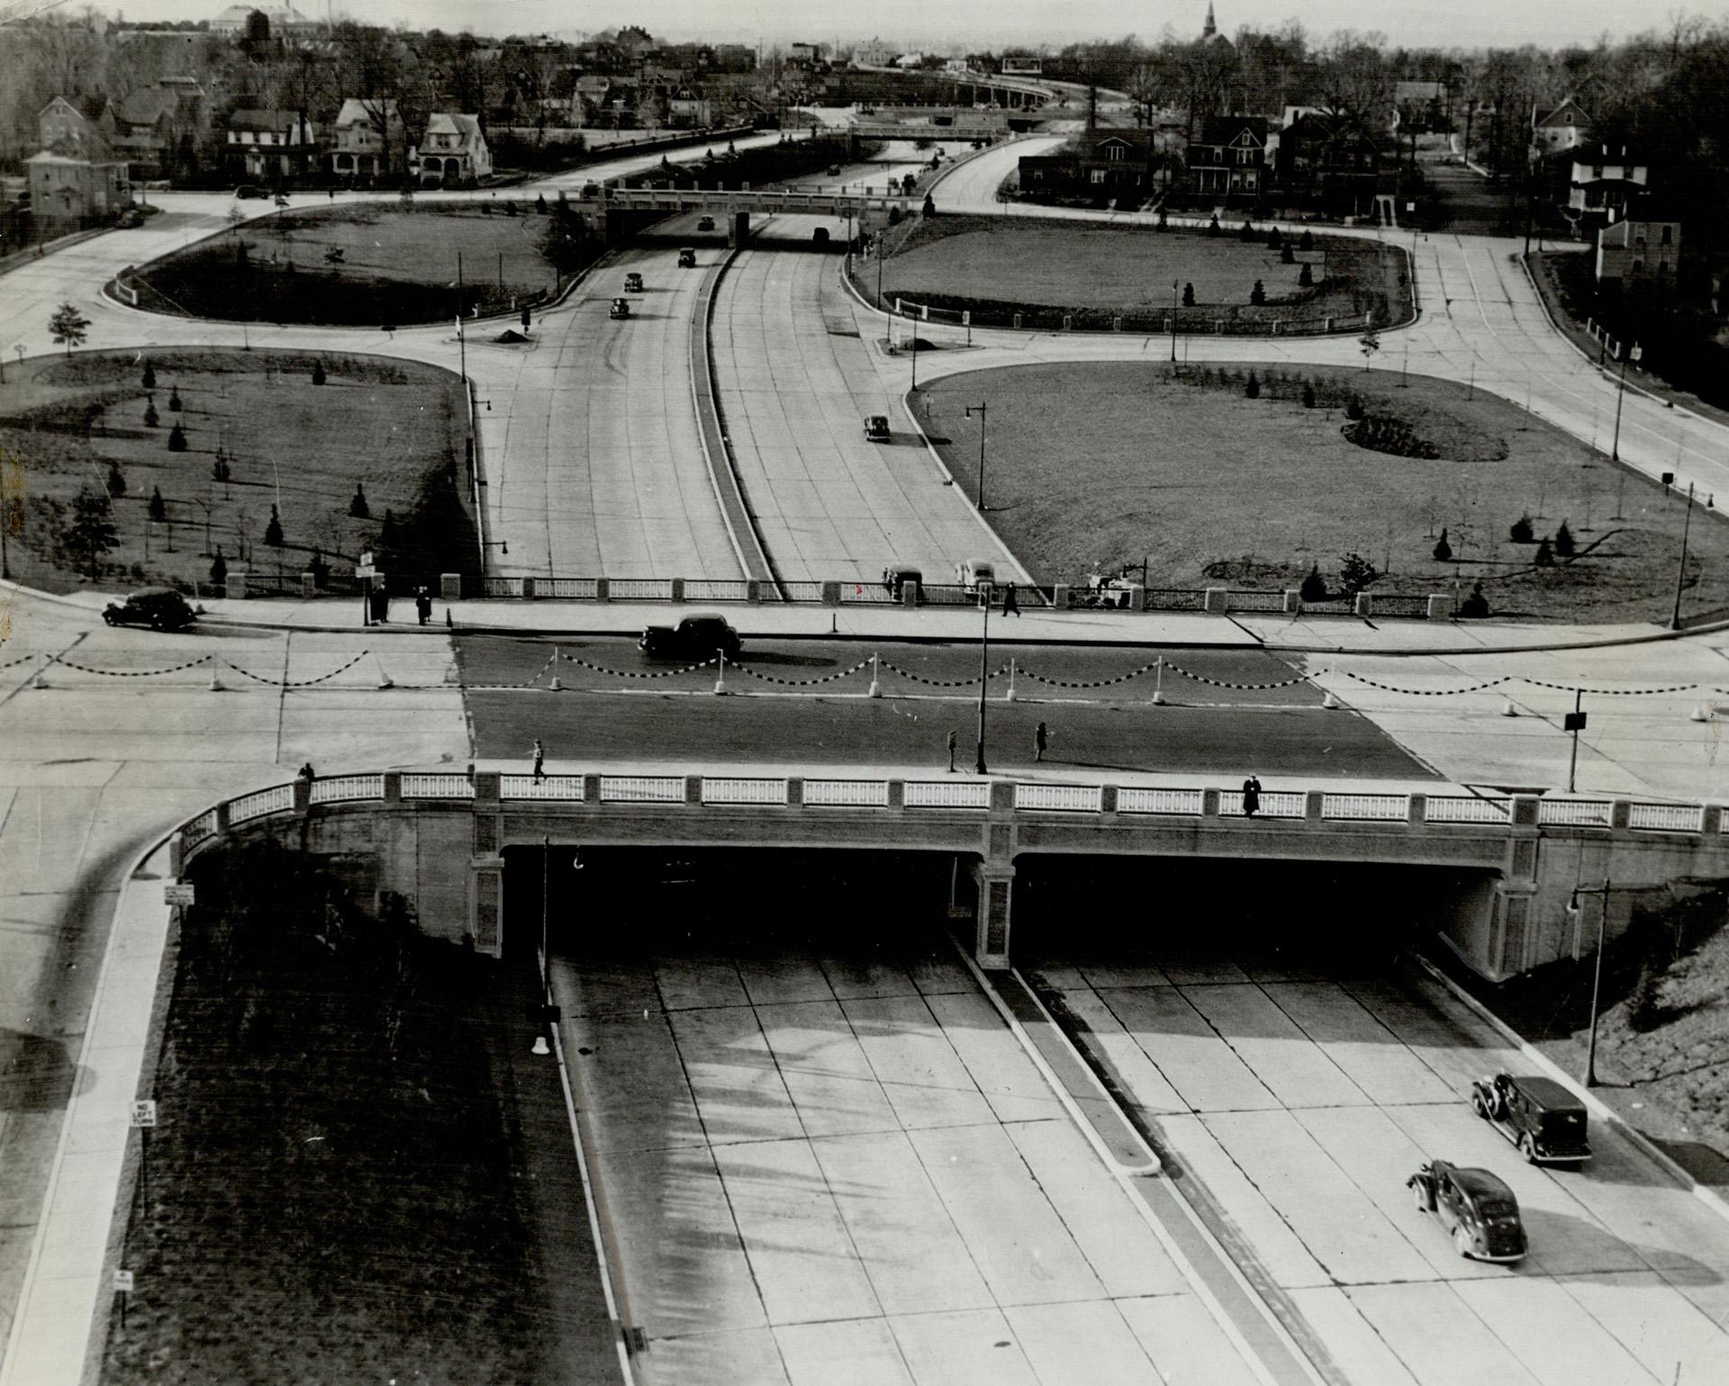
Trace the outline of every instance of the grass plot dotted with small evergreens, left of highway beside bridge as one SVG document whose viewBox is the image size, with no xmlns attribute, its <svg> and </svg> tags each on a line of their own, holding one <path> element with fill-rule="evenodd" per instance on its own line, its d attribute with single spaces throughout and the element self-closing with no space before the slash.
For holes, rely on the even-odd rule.
<svg viewBox="0 0 1729 1386">
<path fill-rule="evenodd" d="M 185 451 L 169 448 L 175 425 Z M 367 544 L 386 572 L 474 572 L 465 437 L 462 384 L 413 361 L 232 349 L 38 358 L 0 385 L 0 449 L 22 461 L 12 574 L 48 591 L 92 581 L 69 536 L 80 493 L 109 499 L 114 525 L 95 581 L 192 591 L 211 582 L 220 548 L 230 574 L 251 569 L 265 582 L 280 570 L 297 586 L 315 558 L 341 574 Z M 218 453 L 228 480 L 216 479 Z M 349 515 L 356 484 L 368 518 Z M 156 493 L 161 520 L 150 518 Z M 266 543 L 273 505 L 280 548 Z"/>
</svg>

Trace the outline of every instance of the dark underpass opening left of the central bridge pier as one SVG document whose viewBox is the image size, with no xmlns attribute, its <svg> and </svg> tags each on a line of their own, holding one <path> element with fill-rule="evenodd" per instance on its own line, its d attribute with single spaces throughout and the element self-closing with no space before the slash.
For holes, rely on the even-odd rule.
<svg viewBox="0 0 1729 1386">
<path fill-rule="evenodd" d="M 968 862 L 944 852 L 773 847 L 507 847 L 503 947 L 603 961 L 816 952 L 953 956 L 972 916 Z M 970 925 L 958 925 L 961 937 Z"/>
</svg>

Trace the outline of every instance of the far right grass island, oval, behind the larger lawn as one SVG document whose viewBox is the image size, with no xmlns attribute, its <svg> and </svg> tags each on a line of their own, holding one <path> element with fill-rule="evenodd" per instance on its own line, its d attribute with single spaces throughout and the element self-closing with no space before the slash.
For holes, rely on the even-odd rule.
<svg viewBox="0 0 1729 1386">
<path fill-rule="evenodd" d="M 890 237 L 894 233 L 890 232 Z M 890 245 L 894 242 L 890 240 Z M 1293 263 L 1257 233 L 1241 240 L 1235 228 L 1153 230 L 1105 223 L 1036 223 L 1025 218 L 927 216 L 906 233 L 884 264 L 884 296 L 932 308 L 970 309 L 975 323 L 1024 327 L 1164 328 L 1177 283 L 1177 325 L 1184 332 L 1321 330 L 1328 318 L 1343 327 L 1364 313 L 1388 325 L 1409 316 L 1402 249 L 1357 237 L 1292 240 Z M 1304 266 L 1314 280 L 1300 283 Z M 866 277 L 875 287 L 873 275 Z M 1250 302 L 1260 280 L 1266 302 Z M 1195 287 L 1195 306 L 1181 304 L 1181 285 Z"/>
</svg>

